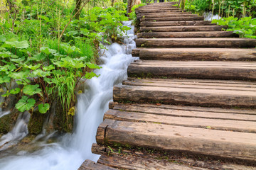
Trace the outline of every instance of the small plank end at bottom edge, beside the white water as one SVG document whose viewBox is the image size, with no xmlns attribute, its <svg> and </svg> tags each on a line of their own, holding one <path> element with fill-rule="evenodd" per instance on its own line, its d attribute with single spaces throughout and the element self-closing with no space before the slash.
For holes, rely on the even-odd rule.
<svg viewBox="0 0 256 170">
<path fill-rule="evenodd" d="M 110 166 L 105 166 L 103 164 L 97 164 L 87 159 L 85 160 L 85 162 L 82 163 L 82 165 L 78 170 L 115 170 L 115 169 Z"/>
</svg>

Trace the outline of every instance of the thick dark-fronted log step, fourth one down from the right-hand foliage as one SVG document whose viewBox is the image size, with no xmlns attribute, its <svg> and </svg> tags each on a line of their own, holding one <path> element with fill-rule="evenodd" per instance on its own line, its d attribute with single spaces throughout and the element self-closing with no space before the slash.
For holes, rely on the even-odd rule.
<svg viewBox="0 0 256 170">
<path fill-rule="evenodd" d="M 226 89 L 174 88 L 164 86 L 114 86 L 114 101 L 137 103 L 183 104 L 188 106 L 217 106 L 256 108 L 255 91 Z"/>
</svg>

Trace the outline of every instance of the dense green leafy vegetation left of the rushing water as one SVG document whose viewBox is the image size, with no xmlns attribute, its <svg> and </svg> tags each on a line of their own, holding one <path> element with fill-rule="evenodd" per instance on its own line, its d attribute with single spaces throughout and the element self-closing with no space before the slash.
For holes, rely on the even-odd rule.
<svg viewBox="0 0 256 170">
<path fill-rule="evenodd" d="M 18 111 L 46 113 L 58 98 L 63 119 L 74 115 L 80 84 L 99 76 L 99 47 L 129 30 L 121 1 L 78 1 L 1 1 L 0 93 L 16 96 Z"/>
</svg>

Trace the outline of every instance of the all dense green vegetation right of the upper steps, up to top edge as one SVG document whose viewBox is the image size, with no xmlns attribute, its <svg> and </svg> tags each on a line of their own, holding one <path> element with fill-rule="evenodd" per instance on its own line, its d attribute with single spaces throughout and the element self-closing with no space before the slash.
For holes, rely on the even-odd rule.
<svg viewBox="0 0 256 170">
<path fill-rule="evenodd" d="M 186 0 L 185 9 L 203 14 L 210 11 L 220 18 L 218 25 L 238 33 L 241 38 L 256 38 L 256 0 Z"/>
</svg>

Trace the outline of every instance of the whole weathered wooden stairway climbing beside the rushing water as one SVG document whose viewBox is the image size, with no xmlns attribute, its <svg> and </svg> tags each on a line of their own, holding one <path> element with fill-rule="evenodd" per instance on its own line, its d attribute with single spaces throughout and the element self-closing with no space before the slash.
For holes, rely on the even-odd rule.
<svg viewBox="0 0 256 170">
<path fill-rule="evenodd" d="M 256 169 L 256 40 L 173 4 L 137 8 L 140 60 L 80 169 Z"/>
</svg>

